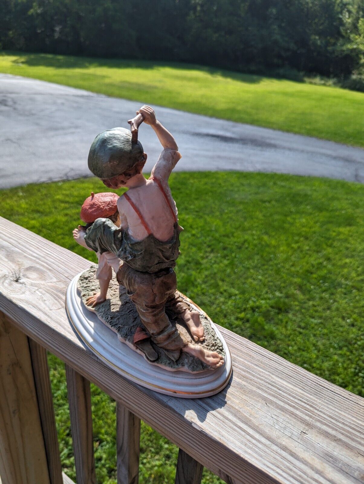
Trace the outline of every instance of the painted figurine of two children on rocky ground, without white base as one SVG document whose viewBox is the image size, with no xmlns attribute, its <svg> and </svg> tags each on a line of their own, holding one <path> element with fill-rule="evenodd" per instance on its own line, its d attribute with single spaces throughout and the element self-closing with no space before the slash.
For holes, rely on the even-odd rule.
<svg viewBox="0 0 364 484">
<path fill-rule="evenodd" d="M 227 356 L 225 342 L 210 318 L 177 290 L 174 267 L 180 254 L 182 227 L 168 178 L 181 154 L 174 137 L 156 120 L 152 107 L 143 106 L 136 115 L 128 121 L 131 131 L 106 130 L 91 145 L 91 172 L 108 188 L 128 190 L 121 197 L 101 193 L 85 200 L 81 219 L 87 225 L 78 226 L 73 235 L 78 243 L 96 252 L 98 269 L 95 274 L 84 274 L 83 280 L 90 282 L 96 277 L 100 289 L 90 294 L 91 286 L 86 284 L 86 290 L 81 277 L 78 287 L 86 306 L 102 321 L 107 319 L 121 341 L 138 349 L 150 363 L 191 373 L 207 368 L 217 371 Z M 142 121 L 152 127 L 163 148 L 148 180 L 142 173 L 147 154 L 137 140 Z M 99 310 L 106 304 L 111 268 L 120 285 L 118 324 L 112 322 L 110 307 L 107 314 Z M 129 319 L 137 319 L 133 329 L 128 326 L 126 313 Z M 124 326 L 134 332 L 132 339 Z M 231 373 L 230 362 L 228 366 Z"/>
</svg>

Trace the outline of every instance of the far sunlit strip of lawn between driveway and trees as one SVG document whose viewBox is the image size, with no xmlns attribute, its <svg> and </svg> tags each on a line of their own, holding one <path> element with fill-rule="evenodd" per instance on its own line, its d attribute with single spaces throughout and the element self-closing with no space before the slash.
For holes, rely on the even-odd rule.
<svg viewBox="0 0 364 484">
<path fill-rule="evenodd" d="M 364 147 L 364 93 L 187 64 L 0 53 L 0 72 Z"/>
</svg>

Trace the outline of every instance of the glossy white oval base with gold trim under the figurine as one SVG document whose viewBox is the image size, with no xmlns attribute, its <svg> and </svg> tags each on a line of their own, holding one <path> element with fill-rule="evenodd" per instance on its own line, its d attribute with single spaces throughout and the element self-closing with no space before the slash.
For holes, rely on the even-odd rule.
<svg viewBox="0 0 364 484">
<path fill-rule="evenodd" d="M 232 372 L 231 356 L 222 334 L 211 319 L 212 327 L 224 346 L 225 364 L 216 370 L 199 373 L 167 371 L 148 363 L 142 355 L 129 348 L 127 344 L 121 343 L 117 335 L 100 321 L 95 313 L 85 308 L 77 290 L 77 280 L 81 273 L 74 277 L 67 288 L 67 314 L 84 345 L 104 363 L 123 377 L 166 395 L 201 398 L 214 395 L 225 388 Z M 196 308 L 200 310 L 197 306 Z"/>
</svg>

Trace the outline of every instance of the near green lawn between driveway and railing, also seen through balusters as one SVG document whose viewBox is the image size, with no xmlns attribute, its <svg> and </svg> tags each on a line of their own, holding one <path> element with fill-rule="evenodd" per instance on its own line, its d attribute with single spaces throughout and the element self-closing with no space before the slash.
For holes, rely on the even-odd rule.
<svg viewBox="0 0 364 484">
<path fill-rule="evenodd" d="M 177 173 L 179 288 L 212 319 L 364 396 L 364 185 L 262 173 Z M 0 214 L 83 257 L 72 229 L 95 179 L 0 192 Z M 42 200 L 42 203 L 39 201 Z M 50 357 L 64 469 L 75 479 L 64 367 Z M 100 483 L 115 484 L 115 403 L 92 386 Z M 142 425 L 140 482 L 174 480 L 177 449 Z M 220 483 L 204 472 L 204 484 Z"/>
</svg>

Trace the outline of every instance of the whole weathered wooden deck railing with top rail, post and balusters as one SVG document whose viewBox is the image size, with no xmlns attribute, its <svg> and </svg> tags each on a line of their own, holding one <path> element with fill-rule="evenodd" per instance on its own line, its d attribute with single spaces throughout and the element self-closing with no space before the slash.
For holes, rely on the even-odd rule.
<svg viewBox="0 0 364 484">
<path fill-rule="evenodd" d="M 138 481 L 140 419 L 179 446 L 179 484 L 199 483 L 202 466 L 234 484 L 363 483 L 361 397 L 223 328 L 234 368 L 223 392 L 185 400 L 146 390 L 71 329 L 66 288 L 89 261 L 3 218 L 0 260 L 2 484 L 72 483 L 61 473 L 46 350 L 66 363 L 79 484 L 96 482 L 90 381 L 117 401 L 119 484 Z"/>
</svg>

